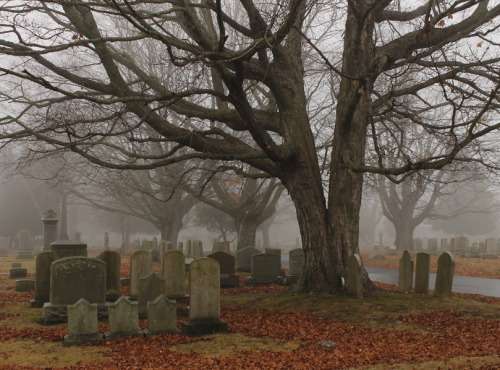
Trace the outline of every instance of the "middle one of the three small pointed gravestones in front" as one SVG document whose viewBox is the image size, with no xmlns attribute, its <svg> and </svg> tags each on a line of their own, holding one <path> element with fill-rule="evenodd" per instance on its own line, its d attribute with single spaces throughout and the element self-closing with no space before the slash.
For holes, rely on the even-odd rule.
<svg viewBox="0 0 500 370">
<path fill-rule="evenodd" d="M 104 333 L 106 340 L 115 340 L 125 336 L 142 337 L 139 330 L 139 304 L 125 297 L 114 303 L 108 303 L 109 331 Z"/>
</svg>

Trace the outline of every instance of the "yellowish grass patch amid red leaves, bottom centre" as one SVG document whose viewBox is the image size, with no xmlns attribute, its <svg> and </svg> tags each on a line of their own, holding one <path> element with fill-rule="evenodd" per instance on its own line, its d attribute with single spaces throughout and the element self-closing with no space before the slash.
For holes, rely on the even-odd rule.
<svg viewBox="0 0 500 370">
<path fill-rule="evenodd" d="M 241 351 L 293 351 L 299 347 L 299 343 L 287 342 L 270 338 L 247 337 L 240 333 L 214 334 L 202 337 L 205 340 L 178 344 L 170 348 L 171 351 L 191 353 L 197 352 L 206 357 L 233 356 Z"/>
</svg>

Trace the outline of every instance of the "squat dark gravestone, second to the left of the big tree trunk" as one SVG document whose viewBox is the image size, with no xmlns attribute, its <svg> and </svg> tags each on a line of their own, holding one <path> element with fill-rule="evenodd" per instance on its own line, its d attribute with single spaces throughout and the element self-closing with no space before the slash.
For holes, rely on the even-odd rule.
<svg viewBox="0 0 500 370">
<path fill-rule="evenodd" d="M 279 260 L 276 254 L 254 254 L 250 266 L 250 276 L 246 278 L 246 285 L 266 285 L 279 283 L 278 276 L 281 274 Z"/>
</svg>

